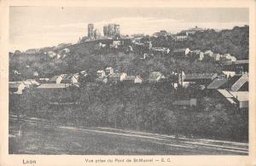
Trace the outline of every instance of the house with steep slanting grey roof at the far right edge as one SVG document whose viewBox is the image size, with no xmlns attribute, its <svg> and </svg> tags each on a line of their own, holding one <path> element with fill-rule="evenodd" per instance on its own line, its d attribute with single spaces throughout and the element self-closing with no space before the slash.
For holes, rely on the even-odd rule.
<svg viewBox="0 0 256 166">
<path fill-rule="evenodd" d="M 231 91 L 248 91 L 248 74 L 236 74 L 230 77 L 227 83 L 224 83 L 219 89 L 229 89 Z"/>
</svg>

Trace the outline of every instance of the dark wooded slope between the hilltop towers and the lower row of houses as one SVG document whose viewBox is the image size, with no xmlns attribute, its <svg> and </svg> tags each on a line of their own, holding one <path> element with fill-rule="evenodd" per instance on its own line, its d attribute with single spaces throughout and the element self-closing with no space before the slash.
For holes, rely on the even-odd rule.
<svg viewBox="0 0 256 166">
<path fill-rule="evenodd" d="M 174 42 L 172 37 L 151 37 L 151 40 L 154 46 L 164 46 L 171 50 L 183 47 L 189 47 L 191 50 L 201 49 L 201 51 L 211 49 L 214 53 L 230 53 L 240 60 L 248 58 L 248 34 L 248 26 L 236 26 L 232 30 L 196 32 L 185 42 Z M 19 71 L 21 79 L 33 77 L 33 72 L 38 72 L 39 77 L 51 77 L 55 74 L 82 70 L 95 73 L 106 66 L 113 66 L 115 70 L 128 74 L 140 74 L 143 77 L 154 71 L 160 71 L 168 75 L 176 70 L 177 65 L 184 72 L 220 71 L 218 67 L 206 62 L 183 61 L 180 64 L 175 64 L 170 55 L 156 54 L 149 60 L 140 60 L 142 54 L 137 52 L 127 53 L 124 48 L 96 50 L 96 43 L 100 42 L 108 44 L 110 41 L 90 41 L 68 45 L 67 48 L 70 49 L 70 54 L 65 59 L 60 60 L 49 58 L 43 51 L 37 54 L 25 54 L 17 51 L 19 54 L 10 54 L 9 56 L 9 71 Z M 45 50 L 60 51 L 55 47 L 46 48 Z M 10 73 L 10 80 L 17 80 L 17 78 Z"/>
</svg>

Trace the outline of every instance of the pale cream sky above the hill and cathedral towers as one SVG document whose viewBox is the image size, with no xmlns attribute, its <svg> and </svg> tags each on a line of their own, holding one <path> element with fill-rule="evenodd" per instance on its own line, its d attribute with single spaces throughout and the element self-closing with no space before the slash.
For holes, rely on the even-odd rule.
<svg viewBox="0 0 256 166">
<path fill-rule="evenodd" d="M 249 24 L 248 9 L 234 8 L 84 8 L 10 7 L 10 49 L 36 49 L 76 43 L 87 35 L 87 24 L 102 32 L 107 23 L 120 25 L 121 34 L 178 32 L 194 26 L 232 29 Z M 103 32 L 102 32 L 103 33 Z"/>
</svg>

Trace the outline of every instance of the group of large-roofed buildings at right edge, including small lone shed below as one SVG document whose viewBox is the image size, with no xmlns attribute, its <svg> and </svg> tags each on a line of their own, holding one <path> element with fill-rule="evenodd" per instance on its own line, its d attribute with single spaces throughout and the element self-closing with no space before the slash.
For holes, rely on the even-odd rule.
<svg viewBox="0 0 256 166">
<path fill-rule="evenodd" d="M 205 96 L 218 100 L 224 105 L 234 106 L 238 110 L 246 110 L 249 105 L 249 77 L 247 72 L 235 73 L 232 77 L 225 72 L 221 73 L 189 73 L 177 74 L 178 82 L 174 87 L 181 86 L 183 89 L 196 87 Z M 173 106 L 190 108 L 198 105 L 198 98 L 189 100 L 176 100 Z"/>
</svg>

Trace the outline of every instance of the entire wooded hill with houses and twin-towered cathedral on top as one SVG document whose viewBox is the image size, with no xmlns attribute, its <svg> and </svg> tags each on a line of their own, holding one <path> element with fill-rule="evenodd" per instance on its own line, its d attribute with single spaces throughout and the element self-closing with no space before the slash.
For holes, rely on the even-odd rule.
<svg viewBox="0 0 256 166">
<path fill-rule="evenodd" d="M 152 36 L 87 29 L 78 43 L 9 53 L 10 112 L 247 141 L 248 26 Z"/>
</svg>

